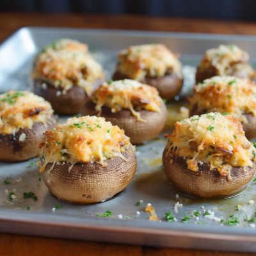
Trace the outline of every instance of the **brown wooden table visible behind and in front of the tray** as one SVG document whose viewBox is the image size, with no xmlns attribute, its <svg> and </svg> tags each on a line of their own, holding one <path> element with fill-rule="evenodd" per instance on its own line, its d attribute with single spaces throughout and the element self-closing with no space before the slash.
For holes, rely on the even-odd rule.
<svg viewBox="0 0 256 256">
<path fill-rule="evenodd" d="M 228 22 L 218 20 L 143 17 L 138 15 L 92 15 L 49 13 L 0 13 L 0 42 L 16 29 L 24 26 L 57 26 L 72 28 L 141 29 L 155 31 L 180 31 L 196 33 L 225 33 L 256 35 L 256 22 Z M 0 60 L 1 61 L 1 60 Z M 1 228 L 1 227 L 0 227 Z M 218 250 L 218 248 L 216 248 Z M 104 255 L 104 256 L 233 256 L 256 253 L 207 252 L 180 250 L 124 244 L 72 241 L 45 237 L 0 234 L 1 256 L 30 255 Z"/>
</svg>

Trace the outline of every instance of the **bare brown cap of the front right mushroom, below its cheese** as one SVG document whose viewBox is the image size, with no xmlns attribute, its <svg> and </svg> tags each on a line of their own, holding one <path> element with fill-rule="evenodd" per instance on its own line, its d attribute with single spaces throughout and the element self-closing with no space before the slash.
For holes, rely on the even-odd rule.
<svg viewBox="0 0 256 256">
<path fill-rule="evenodd" d="M 183 157 L 176 155 L 172 150 L 168 152 L 168 149 L 167 145 L 163 152 L 164 172 L 177 189 L 189 196 L 211 198 L 236 195 L 246 188 L 255 174 L 254 161 L 253 168 L 233 167 L 230 170 L 231 181 L 221 176 L 216 168 L 210 170 L 207 164 L 198 163 L 199 170 L 193 172 L 188 169 Z"/>
</svg>

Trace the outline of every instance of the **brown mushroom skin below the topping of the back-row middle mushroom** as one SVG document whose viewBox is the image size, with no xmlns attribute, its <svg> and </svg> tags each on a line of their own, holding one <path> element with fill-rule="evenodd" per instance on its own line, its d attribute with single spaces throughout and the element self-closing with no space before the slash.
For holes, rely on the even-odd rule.
<svg viewBox="0 0 256 256">
<path fill-rule="evenodd" d="M 115 74 L 113 74 L 112 79 L 115 81 L 131 78 L 117 70 Z M 159 96 L 169 102 L 179 94 L 182 88 L 183 79 L 180 79 L 174 72 L 172 72 L 171 74 L 166 74 L 161 77 L 145 77 L 140 83 L 154 86 L 159 92 Z"/>
</svg>

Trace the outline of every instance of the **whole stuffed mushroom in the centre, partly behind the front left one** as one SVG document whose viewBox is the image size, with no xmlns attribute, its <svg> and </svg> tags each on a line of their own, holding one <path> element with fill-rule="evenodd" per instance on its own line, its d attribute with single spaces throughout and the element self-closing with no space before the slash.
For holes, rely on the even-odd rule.
<svg viewBox="0 0 256 256">
<path fill-rule="evenodd" d="M 103 83 L 82 109 L 82 115 L 103 116 L 118 125 L 136 145 L 162 131 L 166 112 L 156 88 L 131 79 Z"/>
</svg>

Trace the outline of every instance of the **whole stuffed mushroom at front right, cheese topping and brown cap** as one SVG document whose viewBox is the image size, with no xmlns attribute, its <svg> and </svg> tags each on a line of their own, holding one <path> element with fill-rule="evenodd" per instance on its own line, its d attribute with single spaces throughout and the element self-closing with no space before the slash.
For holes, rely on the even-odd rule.
<svg viewBox="0 0 256 256">
<path fill-rule="evenodd" d="M 166 137 L 164 172 L 187 195 L 231 196 L 243 190 L 255 174 L 255 148 L 237 118 L 227 113 L 181 120 Z"/>
</svg>

